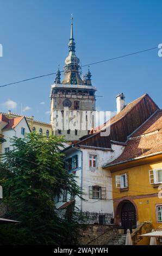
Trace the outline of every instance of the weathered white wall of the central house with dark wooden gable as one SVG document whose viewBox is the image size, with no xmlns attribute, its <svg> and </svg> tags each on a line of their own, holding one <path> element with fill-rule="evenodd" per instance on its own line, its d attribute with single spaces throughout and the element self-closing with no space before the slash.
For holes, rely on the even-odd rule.
<svg viewBox="0 0 162 256">
<path fill-rule="evenodd" d="M 74 155 L 78 155 L 78 168 L 76 169 L 76 181 L 78 186 L 80 187 L 82 184 L 82 176 L 83 176 L 83 198 L 85 200 L 81 200 L 79 197 L 76 197 L 76 208 L 79 208 L 82 211 L 89 212 L 103 212 L 103 213 L 112 213 L 113 212 L 113 194 L 112 194 L 112 181 L 111 181 L 111 173 L 109 170 L 104 170 L 102 166 L 105 163 L 111 162 L 119 157 L 124 147 L 122 145 L 111 145 L 114 151 L 104 151 L 98 149 L 84 149 L 79 148 L 83 153 L 83 175 L 82 175 L 82 153 L 77 150 L 68 149 L 65 151 L 66 158 L 72 157 Z M 89 167 L 89 155 L 97 156 L 97 167 L 92 168 Z M 89 198 L 89 186 L 101 186 L 106 187 L 106 199 L 92 199 Z M 57 208 L 63 205 L 65 202 L 62 202 L 63 197 L 60 198 L 60 202 L 56 204 Z M 68 196 L 67 201 L 70 200 Z"/>
</svg>

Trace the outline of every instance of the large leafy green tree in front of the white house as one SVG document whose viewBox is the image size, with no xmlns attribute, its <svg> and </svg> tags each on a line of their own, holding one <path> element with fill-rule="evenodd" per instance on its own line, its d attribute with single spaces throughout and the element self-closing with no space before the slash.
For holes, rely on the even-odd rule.
<svg viewBox="0 0 162 256">
<path fill-rule="evenodd" d="M 25 139 L 14 138 L 14 150 L 1 163 L 0 184 L 8 218 L 19 224 L 0 227 L 3 245 L 61 245 L 75 242 L 77 223 L 60 220 L 54 198 L 63 190 L 80 196 L 74 175 L 64 168 L 64 139 L 30 133 Z"/>
</svg>

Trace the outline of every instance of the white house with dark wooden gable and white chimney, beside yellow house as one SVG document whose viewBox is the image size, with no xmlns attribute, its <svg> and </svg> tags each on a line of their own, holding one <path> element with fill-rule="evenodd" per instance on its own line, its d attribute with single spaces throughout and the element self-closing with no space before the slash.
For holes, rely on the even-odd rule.
<svg viewBox="0 0 162 256">
<path fill-rule="evenodd" d="M 68 202 L 75 199 L 75 207 L 80 211 L 113 212 L 111 173 L 102 167 L 122 154 L 127 147 L 128 137 L 158 109 L 147 94 L 126 106 L 123 94 L 117 95 L 116 101 L 117 114 L 105 124 L 106 127 L 110 126 L 108 136 L 102 136 L 101 130 L 94 129 L 94 133 L 64 149 L 66 170 L 69 174 L 76 174 L 84 200 L 64 191 L 57 200 L 58 209 L 64 209 Z"/>
</svg>

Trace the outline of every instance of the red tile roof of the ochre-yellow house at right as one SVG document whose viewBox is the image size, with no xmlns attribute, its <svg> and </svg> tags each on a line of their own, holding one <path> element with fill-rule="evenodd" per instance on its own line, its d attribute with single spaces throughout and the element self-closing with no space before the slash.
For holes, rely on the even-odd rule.
<svg viewBox="0 0 162 256">
<path fill-rule="evenodd" d="M 107 164 L 107 166 L 161 151 L 162 110 L 159 110 L 155 112 L 138 131 L 132 134 L 123 153 L 116 160 Z"/>
</svg>

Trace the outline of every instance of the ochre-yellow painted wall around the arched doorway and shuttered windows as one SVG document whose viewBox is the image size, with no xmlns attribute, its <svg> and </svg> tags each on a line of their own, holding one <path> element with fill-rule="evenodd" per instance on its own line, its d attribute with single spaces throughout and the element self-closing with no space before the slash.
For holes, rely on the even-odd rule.
<svg viewBox="0 0 162 256">
<path fill-rule="evenodd" d="M 149 170 L 162 168 L 162 161 L 135 166 L 127 169 L 118 170 L 111 173 L 113 178 L 113 199 L 123 198 L 123 200 L 133 200 L 138 209 L 138 224 L 142 222 L 152 222 L 153 229 L 162 226 L 162 222 L 157 222 L 156 218 L 156 204 L 162 205 L 162 199 L 156 197 L 134 198 L 134 196 L 142 196 L 147 194 L 159 193 L 158 187 L 153 187 L 149 183 Z M 120 191 L 116 188 L 115 176 L 127 173 L 128 174 L 128 191 Z M 159 184 L 160 185 L 160 184 Z M 161 188 L 162 195 L 162 188 Z M 119 202 L 114 201 L 114 209 Z M 149 239 L 142 239 L 139 244 L 147 244 Z"/>
</svg>

